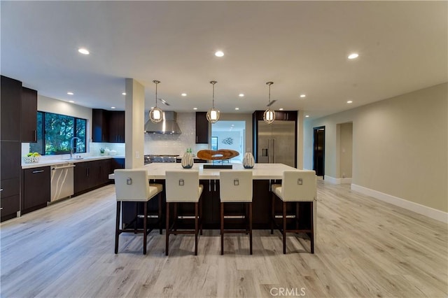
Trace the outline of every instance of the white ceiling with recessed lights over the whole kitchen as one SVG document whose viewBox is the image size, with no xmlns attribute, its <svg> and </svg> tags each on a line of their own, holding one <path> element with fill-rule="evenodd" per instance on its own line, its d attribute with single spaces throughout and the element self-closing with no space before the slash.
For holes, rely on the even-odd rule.
<svg viewBox="0 0 448 298">
<path fill-rule="evenodd" d="M 178 112 L 207 111 L 217 80 L 223 113 L 264 110 L 272 80 L 275 109 L 316 118 L 446 82 L 447 11 L 447 1 L 1 1 L 1 74 L 106 109 L 125 108 L 125 78 L 145 86 L 150 108 L 157 79 L 171 104 L 159 106 Z"/>
</svg>

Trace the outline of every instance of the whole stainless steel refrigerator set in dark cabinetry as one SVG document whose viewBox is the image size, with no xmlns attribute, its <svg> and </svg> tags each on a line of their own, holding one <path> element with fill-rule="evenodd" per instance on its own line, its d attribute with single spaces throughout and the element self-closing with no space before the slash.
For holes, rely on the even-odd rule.
<svg viewBox="0 0 448 298">
<path fill-rule="evenodd" d="M 268 125 L 258 120 L 257 162 L 295 167 L 295 121 L 276 120 Z"/>
</svg>

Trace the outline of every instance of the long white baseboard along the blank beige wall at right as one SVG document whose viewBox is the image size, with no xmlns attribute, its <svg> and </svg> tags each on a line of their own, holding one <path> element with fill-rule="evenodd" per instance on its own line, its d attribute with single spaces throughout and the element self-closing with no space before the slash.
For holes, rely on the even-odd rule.
<svg viewBox="0 0 448 298">
<path fill-rule="evenodd" d="M 326 179 L 326 177 L 325 177 Z M 363 187 L 360 185 L 352 184 L 351 190 L 360 192 L 361 194 L 367 194 L 370 197 L 385 201 L 386 203 L 405 208 L 415 213 L 428 216 L 428 218 L 433 218 L 440 222 L 448 223 L 448 213 L 431 208 L 428 206 L 423 206 L 421 204 L 414 203 L 413 201 L 407 201 L 406 199 L 401 199 L 399 197 L 394 197 L 391 194 L 385 194 L 384 192 L 379 192 L 377 190 L 371 190 L 370 188 Z"/>
</svg>

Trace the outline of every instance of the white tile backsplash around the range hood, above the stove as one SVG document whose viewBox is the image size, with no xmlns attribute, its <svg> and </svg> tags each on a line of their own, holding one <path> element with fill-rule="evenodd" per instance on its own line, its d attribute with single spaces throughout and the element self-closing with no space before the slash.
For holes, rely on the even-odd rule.
<svg viewBox="0 0 448 298">
<path fill-rule="evenodd" d="M 187 148 L 193 153 L 208 149 L 209 144 L 196 143 L 196 114 L 177 113 L 182 134 L 145 134 L 145 154 L 183 155 Z"/>
</svg>

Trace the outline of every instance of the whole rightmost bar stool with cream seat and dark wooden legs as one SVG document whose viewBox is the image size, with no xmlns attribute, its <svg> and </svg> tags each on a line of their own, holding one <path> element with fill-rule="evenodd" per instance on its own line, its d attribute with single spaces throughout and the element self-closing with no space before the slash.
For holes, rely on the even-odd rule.
<svg viewBox="0 0 448 298">
<path fill-rule="evenodd" d="M 286 233 L 299 233 L 306 232 L 311 233 L 311 253 L 314 253 L 314 212 L 313 204 L 316 201 L 317 196 L 317 186 L 316 186 L 316 172 L 315 171 L 284 171 L 283 179 L 280 184 L 272 185 L 272 216 L 271 216 L 271 234 L 274 234 L 275 222 L 275 197 L 281 199 L 283 203 L 283 214 L 282 223 L 283 227 L 278 227 L 279 231 L 283 234 L 283 254 L 286 254 Z M 299 229 L 298 228 L 298 208 L 300 202 L 309 201 L 310 202 L 310 228 L 309 229 Z M 286 203 L 295 202 L 296 204 L 296 214 L 295 229 L 286 229 Z"/>
</svg>

